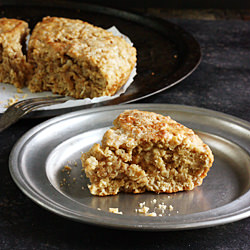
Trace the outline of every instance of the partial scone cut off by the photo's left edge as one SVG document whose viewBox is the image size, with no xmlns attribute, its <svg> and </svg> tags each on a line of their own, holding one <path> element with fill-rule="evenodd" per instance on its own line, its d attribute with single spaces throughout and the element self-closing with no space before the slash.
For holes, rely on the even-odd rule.
<svg viewBox="0 0 250 250">
<path fill-rule="evenodd" d="M 28 23 L 17 19 L 0 19 L 0 82 L 25 86 L 32 72 L 23 52 L 29 34 Z"/>
</svg>

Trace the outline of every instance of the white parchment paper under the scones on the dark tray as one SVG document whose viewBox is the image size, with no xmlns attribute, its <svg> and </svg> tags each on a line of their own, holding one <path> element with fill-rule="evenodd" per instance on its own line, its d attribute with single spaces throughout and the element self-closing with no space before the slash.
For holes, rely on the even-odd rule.
<svg viewBox="0 0 250 250">
<path fill-rule="evenodd" d="M 133 45 L 131 40 L 127 36 L 123 35 L 116 27 L 113 26 L 109 28 L 108 31 L 111 31 L 115 36 L 123 37 L 129 44 Z M 56 104 L 56 105 L 40 108 L 40 110 L 69 108 L 69 107 L 87 105 L 91 103 L 103 102 L 103 101 L 117 98 L 127 90 L 127 88 L 133 82 L 135 76 L 136 76 L 136 66 L 132 70 L 127 83 L 123 85 L 122 88 L 113 96 L 95 97 L 93 99 L 85 98 L 85 99 L 80 99 L 80 100 L 79 99 L 69 100 L 62 104 Z M 22 93 L 18 93 L 17 89 L 11 84 L 0 83 L 0 113 L 3 113 L 8 107 L 8 104 L 13 100 L 21 101 L 23 99 L 28 99 L 28 98 L 33 98 L 33 97 L 53 96 L 51 92 L 31 93 L 28 90 L 28 88 L 23 88 L 21 89 L 21 91 Z"/>
</svg>

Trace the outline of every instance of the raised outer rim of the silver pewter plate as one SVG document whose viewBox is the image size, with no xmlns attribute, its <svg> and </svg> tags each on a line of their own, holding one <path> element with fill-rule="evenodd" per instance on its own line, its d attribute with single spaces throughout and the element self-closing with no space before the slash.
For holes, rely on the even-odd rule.
<svg viewBox="0 0 250 250">
<path fill-rule="evenodd" d="M 221 225 L 221 224 L 226 224 L 229 222 L 234 222 L 234 221 L 238 221 L 240 219 L 244 219 L 250 216 L 250 206 L 249 207 L 245 207 L 243 209 L 240 209 L 237 212 L 233 212 L 233 213 L 229 213 L 229 214 L 225 214 L 223 216 L 220 216 L 220 218 L 218 219 L 212 219 L 212 220 L 208 220 L 205 221 L 201 220 L 199 222 L 194 222 L 192 224 L 179 224 L 179 226 L 175 225 L 174 223 L 168 226 L 164 226 L 164 225 L 154 225 L 152 224 L 153 222 L 156 222 L 155 218 L 153 218 L 153 222 L 151 221 L 148 224 L 143 224 L 143 225 L 130 225 L 130 224 L 124 224 L 121 225 L 119 222 L 112 222 L 112 223 L 107 223 L 106 221 L 99 221 L 99 220 L 93 220 L 93 218 L 87 218 L 86 217 L 79 217 L 79 216 L 74 216 L 74 214 L 70 214 L 65 213 L 65 207 L 64 210 L 58 210 L 58 207 L 56 207 L 56 203 L 52 203 L 52 206 L 49 207 L 48 203 L 51 205 L 51 203 L 48 201 L 48 199 L 46 199 L 46 197 L 44 196 L 39 196 L 39 194 L 33 192 L 33 189 L 27 189 L 27 185 L 28 183 L 24 181 L 24 179 L 22 179 L 20 172 L 16 172 L 16 170 L 19 169 L 19 167 L 17 166 L 17 162 L 18 162 L 18 157 L 19 157 L 19 153 L 20 150 L 22 149 L 22 147 L 24 146 L 24 143 L 27 142 L 27 140 L 29 138 L 31 138 L 32 135 L 39 133 L 40 130 L 51 126 L 55 123 L 57 123 L 58 121 L 63 121 L 65 119 L 72 119 L 73 117 L 76 116 L 81 116 L 81 115 L 86 115 L 86 114 L 90 114 L 90 113 L 97 113 L 97 112 L 102 112 L 102 111 L 110 111 L 110 110 L 114 110 L 114 109 L 119 109 L 119 110 L 125 110 L 125 109 L 147 109 L 147 108 L 166 108 L 168 110 L 181 110 L 182 112 L 194 112 L 196 114 L 204 114 L 206 113 L 206 115 L 212 115 L 214 117 L 219 117 L 219 118 L 223 118 L 223 120 L 226 121 L 231 121 L 233 123 L 236 123 L 237 125 L 240 125 L 241 127 L 245 127 L 250 131 L 250 123 L 248 121 L 242 120 L 240 118 L 237 118 L 235 116 L 231 116 L 222 112 L 218 112 L 218 111 L 214 111 L 214 110 L 210 110 L 210 109 L 205 109 L 205 108 L 198 108 L 195 106 L 187 106 L 187 105 L 179 105 L 179 104 L 126 104 L 126 105 L 114 105 L 114 106 L 106 106 L 106 107 L 98 107 L 98 108 L 94 108 L 94 109 L 86 109 L 86 110 L 81 110 L 81 111 L 75 111 L 75 112 L 71 112 L 71 113 L 67 113 L 55 118 L 51 118 L 45 122 L 42 122 L 41 124 L 35 126 L 34 128 L 32 128 L 31 130 L 27 131 L 14 145 L 11 153 L 10 153 L 10 157 L 9 157 L 9 171 L 11 174 L 12 179 L 14 180 L 14 182 L 16 183 L 16 185 L 19 187 L 19 189 L 27 196 L 29 197 L 31 200 L 33 200 L 35 203 L 39 204 L 41 207 L 55 213 L 58 215 L 61 215 L 63 217 L 66 218 L 70 218 L 72 220 L 78 221 L 78 222 L 85 222 L 85 223 L 89 223 L 89 224 L 94 224 L 94 225 L 99 225 L 99 226 L 105 226 L 105 227 L 112 227 L 112 228 L 117 228 L 117 229 L 126 229 L 126 230 L 147 230 L 147 231 L 168 231 L 168 230 L 186 230 L 186 229 L 195 229 L 195 228 L 204 228 L 204 227 L 211 227 L 211 226 L 217 226 L 217 225 Z M 19 152 L 19 153 L 18 153 Z M 249 152 L 248 152 L 249 153 Z M 25 184 L 25 185 L 24 185 Z M 29 185 L 28 185 L 29 186 Z M 53 187 L 54 189 L 54 187 Z M 56 189 L 55 189 L 56 190 Z M 56 190 L 57 191 L 57 190 Z M 58 191 L 57 191 L 58 192 Z M 250 190 L 248 190 L 245 194 L 241 195 L 240 197 L 238 197 L 236 200 L 232 201 L 235 202 L 237 200 L 243 199 L 245 196 L 249 195 Z M 42 199 L 39 200 L 39 197 Z M 232 202 L 228 203 L 231 204 Z M 226 205 L 228 205 L 226 204 Z M 60 204 L 59 204 L 60 205 Z M 225 206 L 225 205 L 224 205 Z M 222 207 L 222 206 L 221 206 Z M 221 208 L 219 207 L 219 208 Z M 56 209 L 57 208 L 57 209 Z M 217 209 L 217 208 L 215 208 Z M 69 211 L 72 211 L 70 209 L 68 209 Z M 93 210 L 93 211 L 92 211 Z M 97 214 L 100 211 L 95 211 L 94 209 L 92 209 L 91 212 L 93 214 Z M 212 209 L 214 210 L 214 209 Z M 102 212 L 102 211 L 101 211 Z M 204 213 L 204 212 L 199 212 L 199 213 L 195 213 L 195 214 L 200 214 L 200 213 Z M 111 214 L 111 216 L 120 216 L 120 215 L 115 215 L 115 214 Z M 185 216 L 189 216 L 189 215 L 183 215 Z M 123 218 L 126 219 L 130 218 L 131 216 L 126 216 L 123 215 Z M 113 217 L 112 217 L 113 218 Z M 116 217 L 116 218 L 121 218 L 121 217 Z M 152 218 L 152 217 L 150 217 Z M 162 217 L 161 217 L 162 218 Z M 119 219 L 118 219 L 119 220 Z"/>
</svg>

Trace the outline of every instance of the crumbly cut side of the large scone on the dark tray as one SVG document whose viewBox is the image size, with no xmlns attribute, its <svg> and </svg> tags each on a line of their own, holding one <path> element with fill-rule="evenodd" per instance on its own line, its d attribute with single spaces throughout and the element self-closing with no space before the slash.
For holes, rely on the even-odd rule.
<svg viewBox="0 0 250 250">
<path fill-rule="evenodd" d="M 81 63 L 74 58 L 54 53 L 42 54 L 38 59 L 34 54 L 29 62 L 35 66 L 35 74 L 29 82 L 31 92 L 52 91 L 52 93 L 72 96 L 75 98 L 105 95 L 105 81 L 95 67 Z M 53 69 L 53 70 L 52 70 Z M 92 73 L 89 72 L 92 70 Z"/>
</svg>

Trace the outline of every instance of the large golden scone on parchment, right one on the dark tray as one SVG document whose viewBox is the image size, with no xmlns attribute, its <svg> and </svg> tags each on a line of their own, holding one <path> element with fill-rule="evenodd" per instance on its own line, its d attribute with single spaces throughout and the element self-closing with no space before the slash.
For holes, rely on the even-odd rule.
<svg viewBox="0 0 250 250">
<path fill-rule="evenodd" d="M 111 96 L 136 63 L 136 49 L 123 38 L 81 20 L 45 17 L 29 41 L 34 74 L 31 92 L 52 91 L 74 98 Z"/>
</svg>

